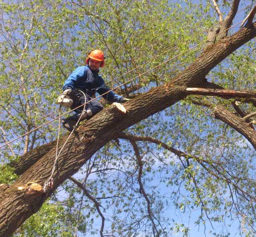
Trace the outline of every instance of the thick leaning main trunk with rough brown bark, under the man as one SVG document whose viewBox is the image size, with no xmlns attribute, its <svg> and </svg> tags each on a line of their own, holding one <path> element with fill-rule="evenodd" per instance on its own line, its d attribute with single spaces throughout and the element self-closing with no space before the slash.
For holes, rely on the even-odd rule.
<svg viewBox="0 0 256 237">
<path fill-rule="evenodd" d="M 55 159 L 55 148 L 50 149 L 13 185 L 0 193 L 0 237 L 10 236 L 30 215 L 38 211 L 58 185 L 76 173 L 110 139 L 118 137 L 121 131 L 142 119 L 184 99 L 188 94 L 181 87 L 198 87 L 212 68 L 256 36 L 255 27 L 256 24 L 242 28 L 232 37 L 220 40 L 169 83 L 126 102 L 124 104 L 126 114 L 110 106 L 88 120 L 85 125 L 81 125 L 76 134 L 71 136 L 58 159 L 52 189 L 47 193 L 33 191 L 30 187 L 32 180 L 43 185 L 50 177 Z M 62 137 L 60 140 L 60 147 L 65 139 L 66 137 Z M 18 187 L 24 188 L 18 189 Z"/>
</svg>

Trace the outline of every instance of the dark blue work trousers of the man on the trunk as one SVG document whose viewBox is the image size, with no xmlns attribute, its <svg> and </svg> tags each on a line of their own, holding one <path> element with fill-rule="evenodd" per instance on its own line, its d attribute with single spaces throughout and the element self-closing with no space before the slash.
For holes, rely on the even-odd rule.
<svg viewBox="0 0 256 237">
<path fill-rule="evenodd" d="M 92 99 L 93 99 L 92 97 L 86 95 L 86 103 Z M 80 98 L 80 102 L 78 104 L 76 104 L 76 107 L 78 107 L 84 103 L 85 103 L 84 96 L 82 96 Z M 83 109 L 84 109 L 84 106 L 81 106 L 80 108 L 78 108 L 77 110 L 74 111 L 76 114 L 70 116 L 69 118 L 77 121 L 79 119 L 80 114 L 83 112 Z M 103 106 L 97 100 L 93 100 L 85 105 L 85 110 L 91 110 L 92 115 L 94 116 L 95 114 L 97 114 L 98 112 L 103 110 Z"/>
</svg>

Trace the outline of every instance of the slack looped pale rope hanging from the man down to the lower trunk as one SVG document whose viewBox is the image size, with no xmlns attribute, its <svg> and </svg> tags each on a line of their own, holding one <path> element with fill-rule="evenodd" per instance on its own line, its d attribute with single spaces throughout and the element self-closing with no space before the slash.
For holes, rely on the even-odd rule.
<svg viewBox="0 0 256 237">
<path fill-rule="evenodd" d="M 76 122 L 76 125 L 74 126 L 73 130 L 70 132 L 68 138 L 66 139 L 66 141 L 65 141 L 64 144 L 63 144 L 63 146 L 62 146 L 61 149 L 60 149 L 60 152 L 58 153 L 58 144 L 59 144 L 59 138 L 60 138 L 60 118 L 61 118 L 60 110 L 61 110 L 61 106 L 62 106 L 62 105 L 60 105 L 59 116 L 58 116 L 59 122 L 58 122 L 58 138 L 57 138 L 57 145 L 56 145 L 56 156 L 55 156 L 54 165 L 53 165 L 53 167 L 52 167 L 52 173 L 51 173 L 49 179 L 44 183 L 44 188 L 43 188 L 44 193 L 47 192 L 48 188 L 52 189 L 53 184 L 54 184 L 54 180 L 53 180 L 52 176 L 53 176 L 53 173 L 54 173 L 54 171 L 55 171 L 55 169 L 56 169 L 56 166 L 57 166 L 58 157 L 60 156 L 60 153 L 62 152 L 63 148 L 65 147 L 65 145 L 66 145 L 66 143 L 68 142 L 69 138 L 71 137 L 72 133 L 74 132 L 74 130 L 75 130 L 76 127 L 78 126 L 78 124 L 79 124 L 79 122 L 80 122 L 80 119 L 82 118 L 82 116 L 83 116 L 83 114 L 84 114 L 85 106 L 86 106 L 86 104 L 87 104 L 87 103 L 86 103 L 86 96 L 85 96 L 84 92 L 82 92 L 81 90 L 78 90 L 78 91 L 80 91 L 80 92 L 84 95 L 84 108 L 83 108 L 82 113 L 80 114 L 80 117 L 79 117 L 78 121 Z M 72 111 L 72 110 L 71 110 L 71 111 Z"/>
</svg>

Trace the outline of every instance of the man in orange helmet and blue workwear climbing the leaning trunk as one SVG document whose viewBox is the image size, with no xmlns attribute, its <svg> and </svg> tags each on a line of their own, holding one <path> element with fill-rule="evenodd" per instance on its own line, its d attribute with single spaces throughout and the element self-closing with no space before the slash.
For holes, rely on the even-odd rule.
<svg viewBox="0 0 256 237">
<path fill-rule="evenodd" d="M 86 95 L 86 102 L 92 100 L 95 97 L 95 93 L 98 92 L 103 96 L 104 99 L 110 102 L 125 102 L 129 99 L 119 96 L 105 85 L 104 80 L 98 75 L 99 68 L 104 67 L 105 57 L 101 50 L 93 50 L 90 52 L 89 56 L 86 58 L 86 66 L 81 66 L 76 68 L 74 72 L 68 77 L 64 82 L 63 94 L 70 96 L 74 103 L 71 108 L 76 108 L 85 103 L 84 95 L 79 92 L 83 91 Z M 107 94 L 105 94 L 108 92 Z M 76 114 L 62 120 L 63 126 L 72 131 L 74 125 L 81 116 L 81 121 L 84 119 L 89 119 L 101 110 L 103 110 L 102 104 L 98 101 L 93 100 L 86 104 L 85 110 L 83 112 L 83 106 L 75 110 Z M 83 114 L 82 114 L 83 113 Z"/>
</svg>

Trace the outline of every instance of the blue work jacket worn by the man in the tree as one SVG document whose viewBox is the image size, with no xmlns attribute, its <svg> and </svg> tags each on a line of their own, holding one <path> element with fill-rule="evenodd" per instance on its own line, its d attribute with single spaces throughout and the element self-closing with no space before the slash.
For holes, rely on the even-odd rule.
<svg viewBox="0 0 256 237">
<path fill-rule="evenodd" d="M 92 96 L 95 92 L 102 95 L 110 89 L 104 84 L 103 78 L 98 73 L 99 70 L 91 70 L 88 65 L 78 67 L 64 82 L 62 89 L 80 89 L 89 94 L 89 96 Z M 112 91 L 102 97 L 110 102 L 123 102 L 124 100 L 123 96 L 119 96 Z"/>
</svg>

